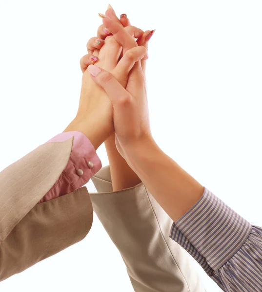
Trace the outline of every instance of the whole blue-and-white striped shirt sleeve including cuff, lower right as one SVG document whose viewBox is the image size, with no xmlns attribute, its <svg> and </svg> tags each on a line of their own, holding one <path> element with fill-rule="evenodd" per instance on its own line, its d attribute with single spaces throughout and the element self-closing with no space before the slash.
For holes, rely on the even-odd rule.
<svg viewBox="0 0 262 292">
<path fill-rule="evenodd" d="M 173 223 L 170 237 L 223 291 L 262 291 L 262 228 L 251 225 L 208 189 Z"/>
</svg>

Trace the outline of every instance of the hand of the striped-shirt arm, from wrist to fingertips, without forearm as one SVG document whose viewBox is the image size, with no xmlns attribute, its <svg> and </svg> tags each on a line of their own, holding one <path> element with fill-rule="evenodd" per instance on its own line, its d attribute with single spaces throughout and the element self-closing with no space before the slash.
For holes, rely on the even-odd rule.
<svg viewBox="0 0 262 292">
<path fill-rule="evenodd" d="M 125 52 L 128 52 L 128 59 L 132 59 L 132 54 L 140 50 L 140 47 L 136 47 L 137 43 L 133 37 L 129 36 L 116 21 L 105 17 L 103 18 L 103 24 L 112 32 L 115 39 L 123 47 L 123 58 L 112 74 L 105 70 L 97 70 L 92 65 L 88 67 L 88 71 L 94 75 L 92 76 L 93 80 L 103 88 L 112 102 L 116 146 L 121 155 L 126 159 L 126 149 L 128 147 L 137 146 L 141 141 L 153 139 L 149 125 L 143 71 L 145 61 L 136 62 L 130 71 L 130 68 L 123 61 Z M 138 40 L 138 43 L 147 44 L 153 33 L 153 31 L 145 32 Z M 127 85 L 125 86 L 125 80 L 121 80 L 121 82 L 119 80 L 121 75 L 125 74 L 126 76 L 125 72 L 127 70 L 130 73 Z"/>
</svg>

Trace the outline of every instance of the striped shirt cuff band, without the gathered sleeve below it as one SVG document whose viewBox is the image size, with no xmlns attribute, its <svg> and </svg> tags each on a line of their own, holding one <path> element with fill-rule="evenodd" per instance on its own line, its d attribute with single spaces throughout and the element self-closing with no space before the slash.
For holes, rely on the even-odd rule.
<svg viewBox="0 0 262 292">
<path fill-rule="evenodd" d="M 204 188 L 201 199 L 173 223 L 169 236 L 211 274 L 242 247 L 251 228 L 248 221 Z"/>
</svg>

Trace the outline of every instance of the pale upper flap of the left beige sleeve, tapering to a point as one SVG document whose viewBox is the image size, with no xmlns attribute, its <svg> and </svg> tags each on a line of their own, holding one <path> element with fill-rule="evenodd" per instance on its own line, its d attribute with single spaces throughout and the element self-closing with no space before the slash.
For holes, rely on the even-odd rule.
<svg viewBox="0 0 262 292">
<path fill-rule="evenodd" d="M 58 180 L 72 146 L 43 144 L 0 172 L 0 242 Z"/>
</svg>

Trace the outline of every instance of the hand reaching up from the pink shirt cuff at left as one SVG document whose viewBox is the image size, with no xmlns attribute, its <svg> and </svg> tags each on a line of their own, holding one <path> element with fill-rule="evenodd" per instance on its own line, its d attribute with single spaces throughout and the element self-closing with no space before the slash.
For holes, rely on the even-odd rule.
<svg viewBox="0 0 262 292">
<path fill-rule="evenodd" d="M 93 51 L 93 54 L 85 55 L 81 59 L 83 77 L 79 110 L 74 120 L 65 129 L 65 131 L 78 130 L 83 132 L 94 145 L 95 149 L 114 132 L 113 108 L 108 96 L 93 82 L 90 78 L 90 74 L 85 72 L 85 69 L 90 65 L 91 58 L 91 61 L 97 61 L 102 68 L 112 72 L 118 63 L 122 51 L 121 46 L 115 41 L 114 37 L 106 37 L 105 41 L 102 39 L 105 37 L 104 31 L 102 27 L 98 30 L 98 35 L 100 37 L 99 43 L 98 37 L 91 38 L 87 43 L 88 52 L 92 53 Z M 137 38 L 141 37 L 143 34 L 143 31 L 136 27 L 130 26 L 128 27 L 128 31 L 133 37 Z M 103 43 L 105 43 L 105 45 L 103 45 Z M 97 58 L 96 54 L 99 49 L 101 50 Z M 139 52 L 136 51 L 134 54 L 136 55 L 137 53 Z M 136 55 L 136 57 L 138 57 L 138 55 Z M 130 64 L 130 61 L 133 66 L 133 60 L 128 60 L 126 63 Z M 121 78 L 124 77 L 124 82 L 127 80 L 128 72 L 124 72 L 120 75 Z"/>
</svg>

